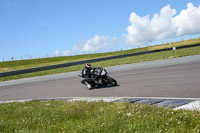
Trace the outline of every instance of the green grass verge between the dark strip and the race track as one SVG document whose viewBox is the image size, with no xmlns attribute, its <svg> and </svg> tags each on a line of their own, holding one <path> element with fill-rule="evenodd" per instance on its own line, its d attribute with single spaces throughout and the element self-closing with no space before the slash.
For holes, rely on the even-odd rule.
<svg viewBox="0 0 200 133">
<path fill-rule="evenodd" d="M 182 57 L 182 56 L 198 55 L 198 54 L 200 54 L 200 47 L 193 47 L 193 48 L 179 49 L 175 51 L 157 52 L 157 53 L 152 53 L 152 54 L 145 54 L 145 55 L 120 58 L 120 59 L 101 61 L 101 62 L 93 63 L 92 65 L 94 67 L 95 66 L 107 67 L 107 66 L 177 58 L 177 57 Z M 21 74 L 21 75 L 16 75 L 16 76 L 2 77 L 0 78 L 0 81 L 78 71 L 78 70 L 81 70 L 83 67 L 84 67 L 83 65 L 76 65 L 76 66 L 71 66 L 71 67 L 66 67 L 66 68 L 58 68 L 58 69 L 52 69 L 52 70 L 46 70 L 46 71 L 40 71 L 40 72 L 34 72 L 34 73 L 28 73 L 28 74 Z"/>
</svg>

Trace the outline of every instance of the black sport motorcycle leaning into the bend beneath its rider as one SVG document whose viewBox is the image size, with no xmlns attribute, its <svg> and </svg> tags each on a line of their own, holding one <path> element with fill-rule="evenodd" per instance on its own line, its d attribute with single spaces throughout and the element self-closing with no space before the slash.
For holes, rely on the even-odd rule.
<svg viewBox="0 0 200 133">
<path fill-rule="evenodd" d="M 82 77 L 81 73 L 79 76 Z M 93 78 L 96 76 L 98 76 L 96 80 L 86 79 L 87 83 L 90 84 L 92 88 L 117 86 L 117 81 L 114 78 L 108 76 L 108 72 L 104 68 L 93 68 L 91 70 L 91 77 Z"/>
</svg>

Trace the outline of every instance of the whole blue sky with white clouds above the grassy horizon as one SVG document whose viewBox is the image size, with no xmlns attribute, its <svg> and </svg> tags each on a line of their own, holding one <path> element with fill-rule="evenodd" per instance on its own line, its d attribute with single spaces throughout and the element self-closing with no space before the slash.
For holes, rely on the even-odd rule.
<svg viewBox="0 0 200 133">
<path fill-rule="evenodd" d="M 0 62 L 196 37 L 199 0 L 0 0 Z"/>
</svg>

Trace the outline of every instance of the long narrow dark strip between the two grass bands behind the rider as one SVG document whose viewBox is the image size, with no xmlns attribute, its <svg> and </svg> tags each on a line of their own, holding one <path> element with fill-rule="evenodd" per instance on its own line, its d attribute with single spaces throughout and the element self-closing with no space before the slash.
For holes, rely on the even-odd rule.
<svg viewBox="0 0 200 133">
<path fill-rule="evenodd" d="M 190 47 L 196 47 L 196 46 L 200 46 L 200 44 L 180 46 L 180 47 L 176 47 L 176 49 L 190 48 Z M 88 63 L 88 62 L 93 63 L 93 62 L 98 62 L 98 61 L 118 59 L 118 58 L 137 56 L 137 55 L 143 55 L 143 54 L 150 54 L 150 53 L 162 52 L 162 51 L 168 51 L 168 50 L 174 50 L 174 48 L 150 50 L 150 51 L 136 52 L 136 53 L 130 53 L 130 54 L 124 54 L 124 55 L 116 55 L 116 56 L 102 57 L 102 58 L 97 58 L 97 59 L 90 59 L 90 60 L 69 62 L 69 63 L 63 63 L 63 64 L 57 64 L 57 65 L 50 65 L 50 66 L 44 66 L 44 67 L 36 67 L 36 68 L 29 68 L 29 69 L 23 69 L 23 70 L 9 71 L 9 72 L 0 73 L 0 77 L 7 77 L 7 76 L 32 73 L 32 72 L 39 72 L 39 71 L 43 71 L 43 70 L 50 70 L 50 69 L 80 65 L 80 64 L 84 64 L 84 63 Z"/>
</svg>

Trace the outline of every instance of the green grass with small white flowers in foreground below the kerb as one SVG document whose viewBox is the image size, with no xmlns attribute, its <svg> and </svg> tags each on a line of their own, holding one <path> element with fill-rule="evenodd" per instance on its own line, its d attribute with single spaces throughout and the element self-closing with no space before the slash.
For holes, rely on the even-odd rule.
<svg viewBox="0 0 200 133">
<path fill-rule="evenodd" d="M 145 104 L 31 101 L 0 104 L 0 132 L 200 132 L 200 112 Z"/>
</svg>

